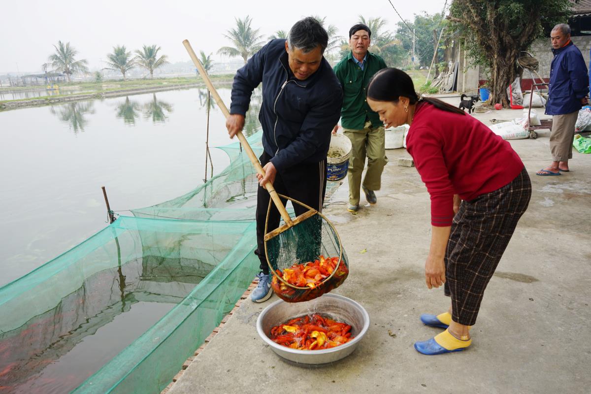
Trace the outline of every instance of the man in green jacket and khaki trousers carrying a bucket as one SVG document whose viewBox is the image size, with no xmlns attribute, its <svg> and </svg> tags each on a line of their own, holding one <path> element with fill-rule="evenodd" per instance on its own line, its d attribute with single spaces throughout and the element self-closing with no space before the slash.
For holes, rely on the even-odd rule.
<svg viewBox="0 0 591 394">
<path fill-rule="evenodd" d="M 335 66 L 335 74 L 343 87 L 343 109 L 341 124 L 353 149 L 349 158 L 349 212 L 359 210 L 361 175 L 368 158 L 368 170 L 363 179 L 363 192 L 368 203 L 375 204 L 374 190 L 381 187 L 382 171 L 388 162 L 384 149 L 384 125 L 379 115 L 369 108 L 365 89 L 375 73 L 386 68 L 381 57 L 368 51 L 371 31 L 364 24 L 357 24 L 349 30 L 351 51 Z M 336 133 L 339 125 L 335 126 Z"/>
</svg>

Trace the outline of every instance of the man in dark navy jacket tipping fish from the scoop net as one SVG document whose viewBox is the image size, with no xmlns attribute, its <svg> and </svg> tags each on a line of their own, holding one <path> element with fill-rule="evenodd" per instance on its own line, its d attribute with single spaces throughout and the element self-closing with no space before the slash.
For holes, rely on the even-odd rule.
<svg viewBox="0 0 591 394">
<path fill-rule="evenodd" d="M 322 210 L 326 154 L 343 102 L 339 81 L 323 56 L 327 44 L 322 25 L 304 18 L 293 25 L 287 41 L 270 41 L 234 77 L 231 115 L 226 121 L 230 138 L 242 130 L 252 91 L 262 82 L 259 121 L 264 152 L 259 159 L 265 177 L 257 175 L 255 254 L 261 273 L 251 295 L 255 302 L 266 301 L 272 294 L 264 246 L 269 193 L 262 185 L 270 181 L 277 193 Z M 298 215 L 305 209 L 294 204 L 294 211 Z M 275 229 L 279 220 L 277 209 L 272 208 L 267 231 Z"/>
</svg>

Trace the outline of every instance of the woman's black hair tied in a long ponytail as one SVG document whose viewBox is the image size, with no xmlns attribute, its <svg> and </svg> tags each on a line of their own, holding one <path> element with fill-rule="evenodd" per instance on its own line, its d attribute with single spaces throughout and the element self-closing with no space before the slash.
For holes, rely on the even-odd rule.
<svg viewBox="0 0 591 394">
<path fill-rule="evenodd" d="M 413 80 L 402 70 L 394 68 L 382 69 L 369 80 L 368 97 L 372 100 L 398 102 L 400 96 L 408 97 L 410 105 L 427 102 L 441 110 L 466 115 L 463 110 L 441 100 L 419 97 L 414 90 Z"/>
</svg>

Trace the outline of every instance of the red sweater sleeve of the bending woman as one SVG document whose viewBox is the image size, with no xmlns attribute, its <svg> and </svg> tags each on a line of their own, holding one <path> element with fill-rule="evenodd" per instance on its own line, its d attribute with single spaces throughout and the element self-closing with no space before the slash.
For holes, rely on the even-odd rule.
<svg viewBox="0 0 591 394">
<path fill-rule="evenodd" d="M 416 141 L 411 148 L 414 163 L 431 196 L 431 224 L 451 226 L 454 188 L 443 158 L 441 136 L 426 128 L 412 132 Z"/>
</svg>

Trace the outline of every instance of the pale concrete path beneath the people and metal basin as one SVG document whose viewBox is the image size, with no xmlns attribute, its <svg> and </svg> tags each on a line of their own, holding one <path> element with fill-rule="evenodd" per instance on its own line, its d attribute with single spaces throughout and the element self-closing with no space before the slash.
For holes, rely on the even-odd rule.
<svg viewBox="0 0 591 394">
<path fill-rule="evenodd" d="M 484 122 L 520 115 L 476 114 Z M 322 369 L 284 363 L 255 328 L 277 297 L 262 305 L 247 299 L 169 393 L 588 393 L 591 154 L 575 151 L 570 173 L 536 176 L 549 163 L 547 135 L 511 141 L 533 194 L 486 289 L 469 349 L 423 356 L 413 348 L 440 332 L 419 315 L 447 310 L 449 299 L 424 283 L 430 200 L 416 169 L 397 166 L 407 152 L 394 149 L 387 151 L 378 204 L 348 213 L 345 183 L 324 211 L 350 261 L 349 278 L 334 292 L 361 303 L 371 317 L 358 349 Z"/>
</svg>

